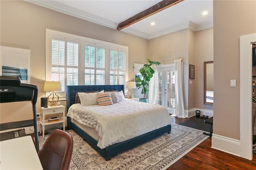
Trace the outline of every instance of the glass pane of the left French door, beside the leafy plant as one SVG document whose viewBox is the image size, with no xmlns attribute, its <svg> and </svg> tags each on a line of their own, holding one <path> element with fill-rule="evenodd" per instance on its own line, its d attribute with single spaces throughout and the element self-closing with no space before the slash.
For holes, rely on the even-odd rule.
<svg viewBox="0 0 256 170">
<path fill-rule="evenodd" d="M 163 85 L 163 72 L 162 71 L 156 71 L 156 99 L 155 104 L 162 105 L 162 85 Z"/>
</svg>

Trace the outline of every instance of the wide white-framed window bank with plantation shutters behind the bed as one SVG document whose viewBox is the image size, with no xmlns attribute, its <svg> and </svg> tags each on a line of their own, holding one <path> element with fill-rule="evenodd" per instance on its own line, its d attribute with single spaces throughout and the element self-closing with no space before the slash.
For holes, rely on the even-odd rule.
<svg viewBox="0 0 256 170">
<path fill-rule="evenodd" d="M 128 47 L 46 29 L 46 81 L 117 85 L 128 79 Z M 61 92 L 59 92 L 61 93 Z"/>
</svg>

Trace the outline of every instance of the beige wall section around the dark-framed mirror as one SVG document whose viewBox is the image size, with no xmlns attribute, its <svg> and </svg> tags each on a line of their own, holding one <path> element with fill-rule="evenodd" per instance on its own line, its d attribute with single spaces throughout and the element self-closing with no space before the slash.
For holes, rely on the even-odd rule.
<svg viewBox="0 0 256 170">
<path fill-rule="evenodd" d="M 196 32 L 195 56 L 195 108 L 213 110 L 212 105 L 204 105 L 204 61 L 213 61 L 213 28 Z"/>
</svg>

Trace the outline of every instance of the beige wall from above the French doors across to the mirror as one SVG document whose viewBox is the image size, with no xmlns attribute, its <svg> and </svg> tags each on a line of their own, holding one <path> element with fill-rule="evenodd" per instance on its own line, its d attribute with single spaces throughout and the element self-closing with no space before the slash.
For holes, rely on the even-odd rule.
<svg viewBox="0 0 256 170">
<path fill-rule="evenodd" d="M 213 61 L 213 28 L 194 32 L 180 30 L 149 40 L 149 56 L 154 61 L 184 59 L 184 109 L 213 110 L 204 105 L 204 61 Z M 195 65 L 195 79 L 189 79 L 189 65 Z M 192 84 L 189 84 L 192 81 Z"/>
</svg>

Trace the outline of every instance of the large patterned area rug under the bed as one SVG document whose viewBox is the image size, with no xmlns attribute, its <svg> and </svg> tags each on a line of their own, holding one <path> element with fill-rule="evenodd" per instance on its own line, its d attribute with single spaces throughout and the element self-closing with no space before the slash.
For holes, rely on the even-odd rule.
<svg viewBox="0 0 256 170">
<path fill-rule="evenodd" d="M 202 130 L 172 124 L 170 134 L 164 134 L 106 161 L 76 132 L 70 170 L 165 170 L 182 156 L 206 140 Z M 49 135 L 39 137 L 42 147 Z"/>
</svg>

